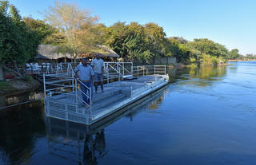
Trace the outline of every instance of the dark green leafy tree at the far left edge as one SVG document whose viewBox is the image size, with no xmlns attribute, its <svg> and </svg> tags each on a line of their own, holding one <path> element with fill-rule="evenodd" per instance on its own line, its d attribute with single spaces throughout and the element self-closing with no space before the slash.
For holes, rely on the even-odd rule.
<svg viewBox="0 0 256 165">
<path fill-rule="evenodd" d="M 0 2 L 0 63 L 6 69 L 25 77 L 20 72 L 28 61 L 34 61 L 39 45 L 38 33 L 26 26 L 15 6 Z M 6 65 L 13 65 L 14 69 Z"/>
</svg>

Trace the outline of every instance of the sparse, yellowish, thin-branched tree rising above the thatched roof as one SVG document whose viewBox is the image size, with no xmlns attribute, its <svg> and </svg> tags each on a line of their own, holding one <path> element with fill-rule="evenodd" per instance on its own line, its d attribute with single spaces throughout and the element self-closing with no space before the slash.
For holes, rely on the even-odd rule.
<svg viewBox="0 0 256 165">
<path fill-rule="evenodd" d="M 90 10 L 80 9 L 76 4 L 54 2 L 44 14 L 46 22 L 58 29 L 65 40 L 60 44 L 65 51 L 72 53 L 76 61 L 79 53 L 90 52 L 94 48 L 94 28 L 98 17 L 91 16 Z"/>
</svg>

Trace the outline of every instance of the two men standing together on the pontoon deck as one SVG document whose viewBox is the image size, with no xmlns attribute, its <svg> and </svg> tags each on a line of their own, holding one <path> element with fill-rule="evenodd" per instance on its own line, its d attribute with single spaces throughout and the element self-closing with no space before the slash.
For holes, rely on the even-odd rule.
<svg viewBox="0 0 256 165">
<path fill-rule="evenodd" d="M 74 69 L 75 74 L 78 74 L 79 79 L 82 81 L 80 84 L 82 90 L 82 100 L 86 103 L 85 106 L 88 108 L 90 104 L 90 99 L 85 95 L 90 88 L 91 92 L 93 92 L 92 86 L 94 83 L 95 92 L 98 92 L 98 84 L 101 85 L 102 92 L 103 90 L 103 72 L 104 72 L 104 61 L 100 58 L 100 54 L 96 54 L 96 58 L 91 61 L 90 65 L 88 65 L 88 60 L 86 58 L 82 59 L 82 64 L 78 65 Z M 86 88 L 87 86 L 87 88 Z M 89 95 L 88 95 L 89 96 Z"/>
</svg>

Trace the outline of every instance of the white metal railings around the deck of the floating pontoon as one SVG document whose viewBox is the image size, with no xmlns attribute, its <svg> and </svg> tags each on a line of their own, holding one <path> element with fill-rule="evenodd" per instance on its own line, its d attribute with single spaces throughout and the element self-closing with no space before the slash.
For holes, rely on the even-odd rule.
<svg viewBox="0 0 256 165">
<path fill-rule="evenodd" d="M 166 65 L 138 65 L 134 66 L 131 62 L 105 62 L 104 80 L 109 83 L 111 79 L 116 79 L 120 81 L 125 77 L 143 77 L 146 75 L 165 75 Z M 43 84 L 44 84 L 44 95 L 45 98 L 50 96 L 58 101 L 58 95 L 68 96 L 69 100 L 73 99 L 73 104 L 85 104 L 89 108 L 90 116 L 92 116 L 92 94 L 93 87 L 88 87 L 82 81 L 74 75 L 74 64 L 67 65 L 66 73 L 50 73 L 43 74 Z M 86 88 L 88 93 L 84 92 L 81 88 Z M 132 88 L 131 88 L 132 92 Z M 132 95 L 132 93 L 131 93 Z M 90 100 L 87 103 L 86 100 Z M 70 104 L 70 103 L 66 103 Z M 86 114 L 87 109 L 82 108 L 82 114 Z M 87 112 L 88 114 L 88 112 Z"/>
</svg>

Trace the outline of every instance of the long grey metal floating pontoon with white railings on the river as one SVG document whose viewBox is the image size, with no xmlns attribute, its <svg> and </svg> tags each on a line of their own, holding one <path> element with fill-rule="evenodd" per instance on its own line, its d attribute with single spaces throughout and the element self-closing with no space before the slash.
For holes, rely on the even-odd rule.
<svg viewBox="0 0 256 165">
<path fill-rule="evenodd" d="M 127 68 L 124 64 L 113 63 L 106 66 L 104 75 L 104 92 L 99 90 L 98 93 L 90 88 L 88 93 L 83 93 L 79 88 L 82 82 L 74 78 L 73 72 L 44 75 L 46 116 L 91 125 L 155 92 L 169 81 L 163 65 L 130 65 Z M 55 77 L 55 80 L 45 81 L 46 77 Z M 82 94 L 92 100 L 88 108 Z"/>
</svg>

